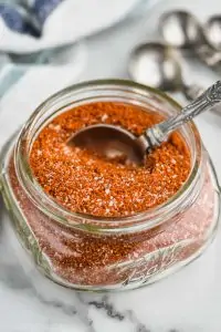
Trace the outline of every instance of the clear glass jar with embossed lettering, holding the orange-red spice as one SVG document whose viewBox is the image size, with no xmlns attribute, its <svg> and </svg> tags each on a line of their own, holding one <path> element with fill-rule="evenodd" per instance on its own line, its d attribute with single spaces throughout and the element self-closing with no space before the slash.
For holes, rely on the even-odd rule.
<svg viewBox="0 0 221 332">
<path fill-rule="evenodd" d="M 54 282 L 82 290 L 124 290 L 154 282 L 186 266 L 211 242 L 219 220 L 219 185 L 191 122 L 180 128 L 191 172 L 164 205 L 124 218 L 74 214 L 35 181 L 29 154 L 53 117 L 97 101 L 140 105 L 166 117 L 180 106 L 166 94 L 120 80 L 93 81 L 48 98 L 3 148 L 0 184 L 11 229 L 36 268 Z"/>
</svg>

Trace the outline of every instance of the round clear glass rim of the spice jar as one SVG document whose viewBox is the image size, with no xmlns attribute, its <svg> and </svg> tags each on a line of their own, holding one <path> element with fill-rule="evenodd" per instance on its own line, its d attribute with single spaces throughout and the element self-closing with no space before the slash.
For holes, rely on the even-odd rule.
<svg viewBox="0 0 221 332">
<path fill-rule="evenodd" d="M 28 141 L 30 139 L 30 132 L 36 123 L 38 117 L 45 112 L 46 107 L 50 107 L 50 105 L 64 97 L 65 95 L 74 92 L 81 92 L 85 89 L 92 90 L 96 86 L 99 86 L 101 89 L 105 86 L 109 89 L 113 86 L 118 86 L 119 89 L 130 89 L 135 93 L 139 92 L 144 95 L 156 95 L 161 97 L 165 102 L 168 102 L 176 112 L 179 112 L 181 110 L 181 106 L 166 93 L 154 87 L 127 80 L 94 80 L 65 87 L 60 92 L 53 94 L 52 96 L 49 96 L 42 104 L 40 104 L 22 127 L 14 148 L 14 166 L 19 180 L 29 198 L 35 205 L 38 205 L 44 214 L 66 226 L 78 227 L 90 231 L 123 231 L 124 229 L 127 229 L 127 231 L 134 231 L 137 227 L 140 229 L 140 226 L 143 226 L 143 228 L 145 229 L 156 227 L 164 222 L 161 218 L 162 216 L 165 217 L 165 220 L 168 219 L 169 215 L 172 216 L 172 211 L 181 204 L 181 201 L 185 200 L 186 197 L 188 197 L 189 191 L 191 191 L 192 187 L 194 187 L 199 178 L 199 169 L 202 157 L 202 143 L 199 132 L 193 122 L 189 122 L 185 125 L 186 128 L 189 129 L 189 133 L 192 135 L 194 149 L 192 168 L 189 177 L 172 197 L 170 197 L 164 204 L 150 208 L 146 211 L 126 217 L 96 217 L 83 212 L 73 212 L 64 208 L 52 197 L 50 197 L 45 191 L 43 191 L 42 187 L 36 183 L 34 176 L 32 175 L 32 170 L 29 165 L 29 154 L 27 145 Z"/>
</svg>

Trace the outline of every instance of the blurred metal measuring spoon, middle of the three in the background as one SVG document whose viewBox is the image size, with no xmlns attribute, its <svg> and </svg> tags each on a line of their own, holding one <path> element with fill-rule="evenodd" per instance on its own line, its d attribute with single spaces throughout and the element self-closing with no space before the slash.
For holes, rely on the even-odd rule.
<svg viewBox="0 0 221 332">
<path fill-rule="evenodd" d="M 169 45 L 188 49 L 208 66 L 221 72 L 221 52 L 215 50 L 206 30 L 191 13 L 171 11 L 162 14 L 159 31 Z"/>
</svg>

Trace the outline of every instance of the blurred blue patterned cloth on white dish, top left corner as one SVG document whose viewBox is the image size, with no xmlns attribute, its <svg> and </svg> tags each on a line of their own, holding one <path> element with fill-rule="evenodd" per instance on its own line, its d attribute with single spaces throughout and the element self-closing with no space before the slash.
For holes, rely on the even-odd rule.
<svg viewBox="0 0 221 332">
<path fill-rule="evenodd" d="M 46 18 L 63 0 L 13 0 L 0 3 L 6 25 L 17 32 L 41 37 Z"/>
</svg>

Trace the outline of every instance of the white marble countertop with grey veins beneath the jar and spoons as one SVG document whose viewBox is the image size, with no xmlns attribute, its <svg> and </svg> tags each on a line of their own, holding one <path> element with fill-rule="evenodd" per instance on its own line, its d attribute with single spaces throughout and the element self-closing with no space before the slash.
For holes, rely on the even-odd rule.
<svg viewBox="0 0 221 332">
<path fill-rule="evenodd" d="M 194 12 L 199 9 L 199 14 L 204 18 L 218 10 L 218 2 L 186 1 L 185 6 Z M 165 1 L 139 22 L 122 23 L 91 38 L 87 41 L 88 63 L 80 79 L 127 77 L 126 61 L 131 46 L 155 38 L 159 11 L 175 3 L 182 7 L 182 1 Z M 219 77 L 196 63 L 187 68 L 186 76 L 204 85 Z M 204 114 L 198 125 L 221 179 L 221 117 Z M 7 220 L 2 208 L 1 214 Z M 113 294 L 66 290 L 64 302 L 59 288 L 56 294 L 51 293 L 48 281 L 39 290 L 38 284 L 31 283 L 17 262 L 6 229 L 0 237 L 0 252 L 2 332 L 221 331 L 221 230 L 203 256 L 160 282 Z"/>
</svg>

